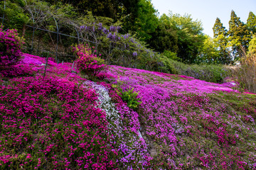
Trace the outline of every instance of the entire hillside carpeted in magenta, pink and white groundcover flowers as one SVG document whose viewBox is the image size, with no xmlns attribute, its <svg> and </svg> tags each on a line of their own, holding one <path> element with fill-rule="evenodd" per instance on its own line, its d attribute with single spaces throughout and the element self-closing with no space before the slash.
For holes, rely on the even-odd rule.
<svg viewBox="0 0 256 170">
<path fill-rule="evenodd" d="M 1 70 L 0 169 L 256 169 L 255 94 L 117 66 L 92 82 L 48 61 L 42 77 L 44 64 Z"/>
</svg>

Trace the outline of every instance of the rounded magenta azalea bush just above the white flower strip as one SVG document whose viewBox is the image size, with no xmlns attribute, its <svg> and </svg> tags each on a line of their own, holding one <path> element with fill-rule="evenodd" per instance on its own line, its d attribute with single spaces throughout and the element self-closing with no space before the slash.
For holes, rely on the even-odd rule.
<svg viewBox="0 0 256 170">
<path fill-rule="evenodd" d="M 89 79 L 95 78 L 97 74 L 107 69 L 105 61 L 93 54 L 92 49 L 88 45 L 75 45 L 73 52 L 78 57 L 76 64 L 79 72 L 87 75 Z"/>
</svg>

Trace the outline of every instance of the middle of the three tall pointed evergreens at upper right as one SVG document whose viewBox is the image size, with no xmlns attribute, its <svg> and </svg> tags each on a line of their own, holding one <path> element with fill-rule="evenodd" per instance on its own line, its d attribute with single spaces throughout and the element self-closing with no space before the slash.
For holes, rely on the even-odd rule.
<svg viewBox="0 0 256 170">
<path fill-rule="evenodd" d="M 241 22 L 240 17 L 232 10 L 229 21 L 228 39 L 230 47 L 233 48 L 233 57 L 235 60 L 242 57 L 241 48 L 247 50 L 251 39 L 250 36 L 250 32 L 245 23 Z"/>
</svg>

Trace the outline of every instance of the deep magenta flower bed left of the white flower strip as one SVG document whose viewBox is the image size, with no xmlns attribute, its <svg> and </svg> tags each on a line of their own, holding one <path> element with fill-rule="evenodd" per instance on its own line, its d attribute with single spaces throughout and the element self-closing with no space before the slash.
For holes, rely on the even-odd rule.
<svg viewBox="0 0 256 170">
<path fill-rule="evenodd" d="M 2 168 L 107 169 L 114 164 L 105 113 L 95 108 L 94 91 L 38 76 L 13 79 L 0 94 Z"/>
</svg>

